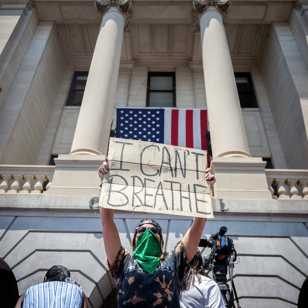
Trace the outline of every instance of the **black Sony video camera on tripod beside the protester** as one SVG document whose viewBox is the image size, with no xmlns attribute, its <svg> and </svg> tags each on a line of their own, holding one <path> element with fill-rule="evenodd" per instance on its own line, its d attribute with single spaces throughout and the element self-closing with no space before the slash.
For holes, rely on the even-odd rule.
<svg viewBox="0 0 308 308">
<path fill-rule="evenodd" d="M 237 294 L 233 284 L 233 268 L 234 261 L 237 259 L 237 252 L 234 249 L 233 240 L 225 236 L 228 228 L 222 226 L 219 232 L 213 234 L 209 241 L 201 239 L 199 247 L 210 247 L 211 254 L 203 257 L 203 266 L 205 270 L 212 270 L 213 279 L 217 282 L 221 294 L 223 295 L 225 305 L 227 308 L 235 307 L 233 302 L 233 292 L 230 292 L 229 285 L 227 284 L 227 274 L 229 272 L 231 289 L 238 303 Z M 229 271 L 228 271 L 229 267 Z M 238 307 L 239 303 L 238 303 Z"/>
</svg>

